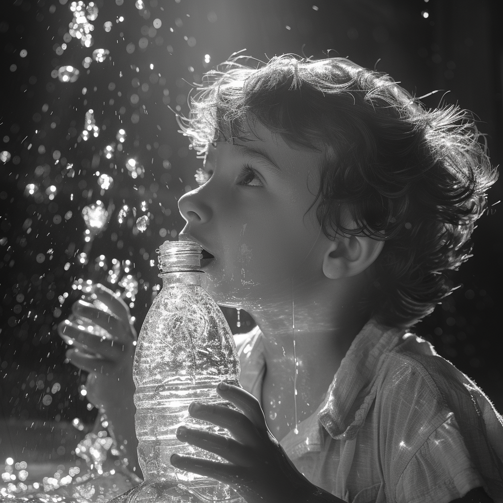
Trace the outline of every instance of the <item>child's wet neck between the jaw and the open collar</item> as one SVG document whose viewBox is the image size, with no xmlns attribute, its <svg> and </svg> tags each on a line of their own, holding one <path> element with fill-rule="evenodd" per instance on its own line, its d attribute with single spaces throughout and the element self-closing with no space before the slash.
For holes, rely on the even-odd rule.
<svg viewBox="0 0 503 503">
<path fill-rule="evenodd" d="M 278 439 L 322 403 L 342 359 L 368 321 L 350 307 L 356 295 L 348 290 L 339 298 L 333 292 L 327 297 L 328 293 L 294 289 L 290 299 L 248 309 L 265 336 L 262 405 Z"/>
</svg>

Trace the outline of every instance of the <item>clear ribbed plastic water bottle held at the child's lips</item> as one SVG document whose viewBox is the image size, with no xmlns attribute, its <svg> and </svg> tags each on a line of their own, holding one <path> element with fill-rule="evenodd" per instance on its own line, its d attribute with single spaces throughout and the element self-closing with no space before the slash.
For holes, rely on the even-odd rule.
<svg viewBox="0 0 503 503">
<path fill-rule="evenodd" d="M 172 454 L 223 461 L 176 438 L 177 428 L 229 435 L 188 413 L 192 401 L 234 408 L 216 393 L 220 381 L 239 385 L 236 346 L 219 307 L 201 286 L 201 246 L 165 241 L 159 253 L 162 289 L 143 322 L 136 347 L 138 457 L 145 479 L 129 501 L 244 501 L 228 485 L 171 465 Z"/>
</svg>

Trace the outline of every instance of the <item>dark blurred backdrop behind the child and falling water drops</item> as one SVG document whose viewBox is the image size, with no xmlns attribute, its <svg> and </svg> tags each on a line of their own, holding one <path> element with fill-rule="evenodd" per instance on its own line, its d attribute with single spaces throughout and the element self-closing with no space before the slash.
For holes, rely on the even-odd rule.
<svg viewBox="0 0 503 503">
<path fill-rule="evenodd" d="M 189 82 L 200 82 L 205 70 L 234 51 L 246 49 L 244 54 L 267 60 L 285 52 L 322 58 L 330 50 L 329 56 L 377 66 L 415 96 L 438 91 L 424 103 L 472 110 L 493 163 L 500 162 L 503 52 L 496 2 L 144 0 L 137 8 L 134 0 L 98 0 L 89 48 L 65 35 L 70 4 L 9 0 L 0 7 L 0 150 L 10 154 L 0 162 L 2 451 L 17 445 L 19 429 L 13 425 L 94 420 L 97 410 L 79 393 L 85 375 L 64 362 L 66 346 L 55 326 L 78 297 L 73 282 L 92 279 L 131 302 L 139 331 L 159 282 L 154 250 L 182 229 L 177 200 L 197 186 L 193 174 L 201 162 L 177 133 L 168 107 L 187 113 Z M 161 26 L 153 29 L 156 19 Z M 63 48 L 65 37 L 70 40 Z M 127 49 L 131 43 L 134 52 Z M 110 53 L 86 68 L 82 62 L 97 48 Z M 75 82 L 51 76 L 62 65 L 79 70 Z M 99 136 L 84 141 L 80 135 L 90 109 Z M 119 151 L 121 128 L 126 139 Z M 107 145 L 115 149 L 110 159 Z M 130 158 L 138 166 L 134 179 L 126 169 Z M 111 176 L 113 187 L 102 190 L 97 172 Z M 26 193 L 28 184 L 37 185 L 35 194 Z M 454 276 L 461 286 L 415 327 L 499 411 L 501 192 L 501 181 L 489 191 L 473 257 Z M 97 200 L 110 210 L 108 223 L 87 250 L 88 263 L 81 264 L 81 211 Z M 129 212 L 120 223 L 124 204 Z M 149 223 L 140 232 L 135 223 L 143 215 Z M 126 287 L 135 287 L 130 280 L 126 287 L 110 283 L 113 259 L 118 280 L 131 274 L 138 282 L 134 301 L 125 297 Z M 234 332 L 253 326 L 246 313 L 241 311 L 238 328 L 236 311 L 223 311 Z"/>
</svg>

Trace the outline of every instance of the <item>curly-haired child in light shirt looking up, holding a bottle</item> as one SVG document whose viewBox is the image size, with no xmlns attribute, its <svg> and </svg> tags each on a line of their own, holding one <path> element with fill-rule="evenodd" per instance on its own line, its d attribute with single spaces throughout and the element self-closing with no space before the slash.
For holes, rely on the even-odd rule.
<svg viewBox="0 0 503 503">
<path fill-rule="evenodd" d="M 217 388 L 242 413 L 189 407 L 235 440 L 177 433 L 229 463 L 172 464 L 248 503 L 503 501 L 501 416 L 408 331 L 449 294 L 444 273 L 467 260 L 497 178 L 469 114 L 427 111 L 343 58 L 234 60 L 206 78 L 183 123 L 205 163 L 201 187 L 179 201 L 180 239 L 213 257 L 203 280 L 217 303 L 258 327 L 238 341 L 244 389 Z M 129 325 L 82 309 L 115 333 Z M 114 430 L 127 438 L 133 407 L 118 407 Z"/>
</svg>

